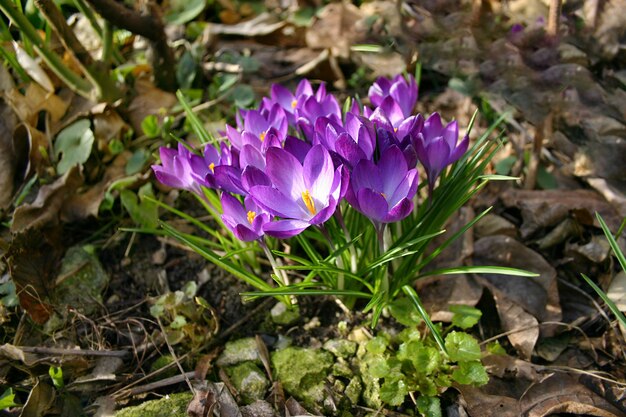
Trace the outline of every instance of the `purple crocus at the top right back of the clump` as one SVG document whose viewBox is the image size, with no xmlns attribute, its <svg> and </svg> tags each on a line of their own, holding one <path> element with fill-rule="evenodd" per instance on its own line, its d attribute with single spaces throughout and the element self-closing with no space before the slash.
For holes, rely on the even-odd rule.
<svg viewBox="0 0 626 417">
<path fill-rule="evenodd" d="M 412 75 L 409 75 L 408 80 L 402 74 L 392 80 L 379 77 L 370 87 L 368 95 L 374 106 L 380 106 L 385 98 L 391 97 L 406 118 L 413 114 L 417 102 L 417 83 Z"/>
</svg>

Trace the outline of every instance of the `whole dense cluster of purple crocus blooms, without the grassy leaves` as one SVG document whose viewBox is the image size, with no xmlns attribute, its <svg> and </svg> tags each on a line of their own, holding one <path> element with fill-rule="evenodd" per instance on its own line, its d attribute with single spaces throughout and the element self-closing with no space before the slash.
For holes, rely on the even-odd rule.
<svg viewBox="0 0 626 417">
<path fill-rule="evenodd" d="M 349 209 L 382 239 L 387 224 L 419 204 L 418 171 L 432 194 L 468 147 L 456 121 L 444 126 L 438 113 L 415 114 L 417 98 L 410 75 L 377 79 L 369 106 L 349 100 L 343 112 L 324 84 L 302 80 L 295 93 L 274 85 L 257 109 L 241 110 L 236 126 L 225 127 L 219 146 L 161 148 L 153 169 L 171 187 L 200 196 L 219 190 L 222 220 L 243 241 L 290 238 Z"/>
</svg>

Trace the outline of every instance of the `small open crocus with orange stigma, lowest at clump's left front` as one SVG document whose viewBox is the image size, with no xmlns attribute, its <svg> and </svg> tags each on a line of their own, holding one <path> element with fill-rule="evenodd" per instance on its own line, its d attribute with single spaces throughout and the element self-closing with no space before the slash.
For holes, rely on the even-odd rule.
<svg viewBox="0 0 626 417">
<path fill-rule="evenodd" d="M 251 242 L 263 237 L 263 226 L 271 221 L 271 217 L 250 196 L 246 196 L 243 206 L 228 193 L 222 194 L 221 201 L 224 210 L 222 220 L 237 239 Z"/>
</svg>

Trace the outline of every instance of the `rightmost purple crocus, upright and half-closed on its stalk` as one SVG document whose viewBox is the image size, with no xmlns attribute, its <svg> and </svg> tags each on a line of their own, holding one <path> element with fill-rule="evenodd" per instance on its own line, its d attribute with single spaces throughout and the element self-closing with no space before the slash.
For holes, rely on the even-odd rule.
<svg viewBox="0 0 626 417">
<path fill-rule="evenodd" d="M 439 113 L 433 113 L 424 122 L 422 131 L 415 139 L 417 157 L 426 169 L 428 186 L 432 192 L 437 177 L 445 167 L 456 162 L 467 151 L 469 137 L 465 135 L 461 142 L 459 138 L 459 125 L 455 121 L 445 127 L 441 123 Z"/>
</svg>

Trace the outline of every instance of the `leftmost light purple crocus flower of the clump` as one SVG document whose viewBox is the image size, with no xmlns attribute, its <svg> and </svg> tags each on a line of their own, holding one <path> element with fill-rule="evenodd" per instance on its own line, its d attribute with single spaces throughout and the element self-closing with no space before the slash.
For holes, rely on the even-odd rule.
<svg viewBox="0 0 626 417">
<path fill-rule="evenodd" d="M 152 170 L 161 184 L 203 195 L 196 174 L 206 170 L 201 156 L 189 151 L 182 143 L 177 149 L 162 146 L 159 155 L 161 165 L 152 165 Z"/>
</svg>

